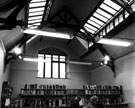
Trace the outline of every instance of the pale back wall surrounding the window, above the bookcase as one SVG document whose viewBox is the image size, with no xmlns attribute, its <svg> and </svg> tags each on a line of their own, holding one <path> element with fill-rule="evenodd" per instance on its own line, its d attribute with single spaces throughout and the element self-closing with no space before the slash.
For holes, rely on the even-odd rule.
<svg viewBox="0 0 135 108">
<path fill-rule="evenodd" d="M 70 59 L 78 59 L 76 53 L 68 47 L 66 44 L 67 40 L 59 41 L 59 39 L 49 39 L 45 38 L 42 41 L 36 39 L 37 41 L 29 43 L 26 46 L 26 55 L 36 55 L 38 50 L 47 47 L 57 47 L 67 53 Z M 33 40 L 34 42 L 34 40 Z M 24 84 L 65 84 L 67 88 L 83 88 L 83 85 L 89 83 L 89 68 L 88 66 L 80 66 L 75 64 L 70 64 L 67 66 L 69 79 L 43 79 L 36 78 L 37 76 L 37 66 L 35 62 L 26 62 L 23 60 L 16 59 L 11 62 L 11 72 L 10 72 L 10 83 L 13 85 L 14 92 L 13 98 L 16 98 L 20 93 L 20 88 Z"/>
</svg>

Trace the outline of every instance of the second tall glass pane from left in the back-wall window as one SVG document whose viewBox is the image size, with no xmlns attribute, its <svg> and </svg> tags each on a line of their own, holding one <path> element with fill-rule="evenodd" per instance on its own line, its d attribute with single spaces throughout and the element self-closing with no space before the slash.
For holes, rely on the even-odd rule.
<svg viewBox="0 0 135 108">
<path fill-rule="evenodd" d="M 45 77 L 51 78 L 51 55 L 46 55 L 45 57 Z"/>
</svg>

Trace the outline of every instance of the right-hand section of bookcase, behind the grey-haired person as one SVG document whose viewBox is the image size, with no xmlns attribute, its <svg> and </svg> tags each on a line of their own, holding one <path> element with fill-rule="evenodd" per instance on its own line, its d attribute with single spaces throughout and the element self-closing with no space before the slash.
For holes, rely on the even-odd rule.
<svg viewBox="0 0 135 108">
<path fill-rule="evenodd" d="M 91 96 L 99 97 L 99 104 L 104 108 L 127 108 L 127 103 L 124 103 L 122 86 L 110 85 L 85 85 L 85 101 L 88 102 Z"/>
</svg>

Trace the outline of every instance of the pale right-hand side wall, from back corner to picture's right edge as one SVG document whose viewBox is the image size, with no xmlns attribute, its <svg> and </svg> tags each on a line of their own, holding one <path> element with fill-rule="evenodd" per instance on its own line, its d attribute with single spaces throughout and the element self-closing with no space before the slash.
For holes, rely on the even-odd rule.
<svg viewBox="0 0 135 108">
<path fill-rule="evenodd" d="M 90 84 L 122 85 L 124 101 L 135 108 L 135 52 L 115 61 L 116 77 L 109 67 L 103 66 L 90 74 Z"/>
</svg>

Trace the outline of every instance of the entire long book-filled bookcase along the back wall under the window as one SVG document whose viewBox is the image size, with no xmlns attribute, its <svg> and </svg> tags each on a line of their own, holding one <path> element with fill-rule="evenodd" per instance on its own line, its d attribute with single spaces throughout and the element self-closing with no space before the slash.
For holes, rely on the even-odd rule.
<svg viewBox="0 0 135 108">
<path fill-rule="evenodd" d="M 92 95 L 99 97 L 104 108 L 127 108 L 122 86 L 84 85 L 82 89 L 67 89 L 65 85 L 25 84 L 19 94 L 23 107 L 69 107 L 75 96 L 81 96 L 80 105 L 88 103 Z"/>
</svg>

